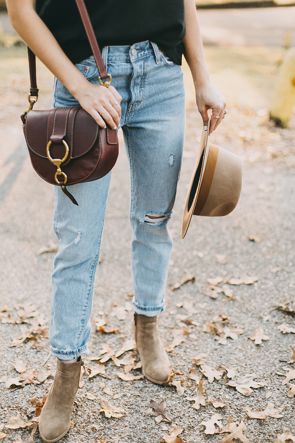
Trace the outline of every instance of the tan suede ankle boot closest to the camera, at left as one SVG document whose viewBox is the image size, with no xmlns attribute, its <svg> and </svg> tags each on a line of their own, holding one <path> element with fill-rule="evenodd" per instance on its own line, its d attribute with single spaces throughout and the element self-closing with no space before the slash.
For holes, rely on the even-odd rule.
<svg viewBox="0 0 295 443">
<path fill-rule="evenodd" d="M 54 381 L 39 418 L 39 432 L 47 443 L 61 439 L 71 426 L 82 361 L 63 363 L 57 358 Z"/>
</svg>

